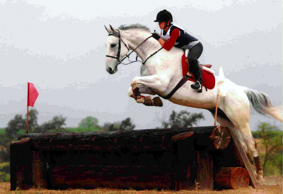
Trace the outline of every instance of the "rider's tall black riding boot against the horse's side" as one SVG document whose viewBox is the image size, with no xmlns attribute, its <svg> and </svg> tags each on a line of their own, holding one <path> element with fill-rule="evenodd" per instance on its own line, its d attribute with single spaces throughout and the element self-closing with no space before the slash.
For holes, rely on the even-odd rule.
<svg viewBox="0 0 283 194">
<path fill-rule="evenodd" d="M 202 92 L 202 78 L 201 78 L 201 70 L 200 65 L 198 64 L 197 60 L 193 60 L 190 63 L 190 71 L 193 73 L 195 77 L 195 83 L 191 85 L 191 88 L 193 88 L 197 92 Z"/>
</svg>

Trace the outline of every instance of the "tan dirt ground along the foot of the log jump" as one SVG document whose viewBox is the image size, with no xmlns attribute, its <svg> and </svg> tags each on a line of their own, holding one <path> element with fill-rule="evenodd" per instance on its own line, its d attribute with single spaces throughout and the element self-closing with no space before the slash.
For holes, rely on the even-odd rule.
<svg viewBox="0 0 283 194">
<path fill-rule="evenodd" d="M 106 188 L 97 188 L 91 190 L 84 189 L 68 189 L 68 190 L 43 190 L 43 189 L 29 189 L 29 190 L 10 190 L 10 183 L 0 183 L 0 194 L 161 194 L 161 193 L 170 193 L 170 194 L 279 194 L 283 193 L 282 191 L 282 176 L 281 177 L 264 177 L 265 181 L 260 184 L 260 189 L 256 190 L 253 187 L 249 186 L 247 188 L 239 188 L 237 190 L 181 190 L 181 191 L 168 191 L 168 190 L 121 190 L 121 189 L 106 189 Z"/>
</svg>

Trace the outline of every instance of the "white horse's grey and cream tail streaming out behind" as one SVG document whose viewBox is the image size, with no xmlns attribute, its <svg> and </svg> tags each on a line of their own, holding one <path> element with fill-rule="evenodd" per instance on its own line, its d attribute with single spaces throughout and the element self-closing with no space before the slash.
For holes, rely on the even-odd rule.
<svg viewBox="0 0 283 194">
<path fill-rule="evenodd" d="M 256 112 L 264 116 L 270 115 L 283 122 L 282 106 L 272 106 L 267 94 L 249 88 L 245 88 L 244 91 Z"/>
</svg>

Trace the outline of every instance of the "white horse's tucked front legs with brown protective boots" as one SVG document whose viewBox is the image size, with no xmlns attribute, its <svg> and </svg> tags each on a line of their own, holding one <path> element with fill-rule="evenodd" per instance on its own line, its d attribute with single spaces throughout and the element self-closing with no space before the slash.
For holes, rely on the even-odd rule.
<svg viewBox="0 0 283 194">
<path fill-rule="evenodd" d="M 133 97 L 137 103 L 142 103 L 146 106 L 163 106 L 163 103 L 159 97 L 155 97 L 151 100 L 150 96 L 142 96 L 141 93 L 152 94 L 156 93 L 151 90 L 155 88 L 160 92 L 164 92 L 169 83 L 168 79 L 161 79 L 161 76 L 156 74 L 152 76 L 136 77 L 131 82 L 132 93 L 129 96 Z"/>
</svg>

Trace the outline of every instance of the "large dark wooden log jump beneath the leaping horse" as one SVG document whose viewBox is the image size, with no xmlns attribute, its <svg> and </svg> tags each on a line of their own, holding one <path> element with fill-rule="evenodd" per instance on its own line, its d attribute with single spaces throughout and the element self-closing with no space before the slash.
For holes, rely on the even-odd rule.
<svg viewBox="0 0 283 194">
<path fill-rule="evenodd" d="M 11 190 L 245 187 L 254 177 L 230 130 L 25 134 L 11 144 Z"/>
</svg>

